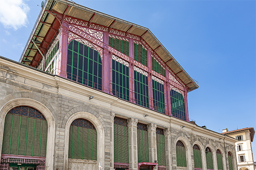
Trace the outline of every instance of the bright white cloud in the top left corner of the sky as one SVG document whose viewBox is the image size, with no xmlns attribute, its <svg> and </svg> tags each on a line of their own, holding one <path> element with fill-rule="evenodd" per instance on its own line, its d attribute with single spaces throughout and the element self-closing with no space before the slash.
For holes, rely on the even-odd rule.
<svg viewBox="0 0 256 170">
<path fill-rule="evenodd" d="M 0 0 L 0 22 L 5 28 L 17 30 L 28 23 L 29 10 L 23 0 Z"/>
</svg>

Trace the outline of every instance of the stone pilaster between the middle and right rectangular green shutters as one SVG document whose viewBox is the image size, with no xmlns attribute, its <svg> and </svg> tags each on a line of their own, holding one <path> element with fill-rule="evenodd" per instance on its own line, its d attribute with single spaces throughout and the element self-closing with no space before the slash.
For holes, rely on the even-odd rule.
<svg viewBox="0 0 256 170">
<path fill-rule="evenodd" d="M 157 154 L 157 125 L 150 123 L 147 125 L 148 127 L 148 140 L 149 140 L 149 162 L 155 162 L 158 160 Z M 157 170 L 158 167 L 156 166 L 154 170 Z"/>
</svg>

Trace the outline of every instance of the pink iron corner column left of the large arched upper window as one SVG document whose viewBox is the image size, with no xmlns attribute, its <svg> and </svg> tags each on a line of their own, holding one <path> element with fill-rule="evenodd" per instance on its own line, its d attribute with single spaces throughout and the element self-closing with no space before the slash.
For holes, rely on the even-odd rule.
<svg viewBox="0 0 256 170">
<path fill-rule="evenodd" d="M 68 22 L 63 20 L 62 26 L 59 28 L 61 34 L 59 38 L 59 70 L 57 73 L 63 78 L 67 78 L 68 25 Z"/>
</svg>

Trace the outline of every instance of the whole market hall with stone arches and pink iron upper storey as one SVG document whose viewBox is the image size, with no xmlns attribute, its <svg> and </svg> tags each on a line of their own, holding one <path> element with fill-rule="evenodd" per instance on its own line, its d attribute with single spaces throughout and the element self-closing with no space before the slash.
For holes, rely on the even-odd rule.
<svg viewBox="0 0 256 170">
<path fill-rule="evenodd" d="M 46 0 L 0 57 L 0 170 L 237 170 L 236 139 L 189 120 L 197 88 L 149 29 Z"/>
</svg>

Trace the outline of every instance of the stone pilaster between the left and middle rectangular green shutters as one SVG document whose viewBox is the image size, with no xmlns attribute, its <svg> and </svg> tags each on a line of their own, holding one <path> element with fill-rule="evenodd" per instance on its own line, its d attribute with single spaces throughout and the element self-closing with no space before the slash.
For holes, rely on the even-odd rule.
<svg viewBox="0 0 256 170">
<path fill-rule="evenodd" d="M 129 131 L 129 168 L 138 170 L 137 123 L 138 119 L 127 119 Z"/>
</svg>

